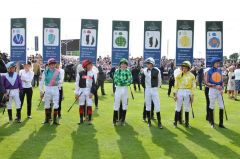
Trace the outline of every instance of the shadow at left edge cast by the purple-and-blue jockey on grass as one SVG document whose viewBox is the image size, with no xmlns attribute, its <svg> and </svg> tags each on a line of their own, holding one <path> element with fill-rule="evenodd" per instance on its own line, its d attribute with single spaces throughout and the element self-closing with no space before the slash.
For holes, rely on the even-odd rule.
<svg viewBox="0 0 240 159">
<path fill-rule="evenodd" d="M 20 130 L 20 128 L 24 127 L 24 125 L 27 123 L 28 119 L 24 119 L 22 123 L 16 123 L 13 122 L 9 125 L 9 123 L 5 123 L 2 126 L 0 126 L 0 143 L 4 139 L 4 136 L 11 136 L 12 134 L 16 133 Z M 8 126 L 9 125 L 9 126 Z M 7 127 L 8 126 L 8 127 Z"/>
</svg>

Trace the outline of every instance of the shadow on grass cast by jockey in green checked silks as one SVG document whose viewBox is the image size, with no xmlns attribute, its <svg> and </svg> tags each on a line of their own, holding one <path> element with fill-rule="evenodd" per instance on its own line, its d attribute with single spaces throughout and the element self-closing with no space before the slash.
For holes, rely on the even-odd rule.
<svg viewBox="0 0 240 159">
<path fill-rule="evenodd" d="M 128 124 L 125 126 L 116 126 L 115 130 L 120 136 L 117 143 L 122 158 L 150 158 L 142 146 L 142 142 L 137 139 L 138 133 L 133 130 L 132 126 Z"/>
</svg>

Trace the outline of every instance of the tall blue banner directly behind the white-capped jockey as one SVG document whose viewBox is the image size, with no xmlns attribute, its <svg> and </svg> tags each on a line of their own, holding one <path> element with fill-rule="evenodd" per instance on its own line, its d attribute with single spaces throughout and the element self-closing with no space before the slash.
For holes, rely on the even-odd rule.
<svg viewBox="0 0 240 159">
<path fill-rule="evenodd" d="M 155 59 L 156 67 L 160 68 L 161 62 L 161 21 L 144 21 L 144 59 Z"/>
</svg>

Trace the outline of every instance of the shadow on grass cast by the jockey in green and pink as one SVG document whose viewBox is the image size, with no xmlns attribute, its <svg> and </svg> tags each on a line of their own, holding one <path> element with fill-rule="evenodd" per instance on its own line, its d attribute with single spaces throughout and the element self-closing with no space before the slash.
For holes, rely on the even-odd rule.
<svg viewBox="0 0 240 159">
<path fill-rule="evenodd" d="M 11 155 L 10 159 L 40 158 L 48 142 L 56 137 L 56 127 L 54 125 L 43 125 L 38 131 L 32 132 L 29 138 Z"/>
</svg>

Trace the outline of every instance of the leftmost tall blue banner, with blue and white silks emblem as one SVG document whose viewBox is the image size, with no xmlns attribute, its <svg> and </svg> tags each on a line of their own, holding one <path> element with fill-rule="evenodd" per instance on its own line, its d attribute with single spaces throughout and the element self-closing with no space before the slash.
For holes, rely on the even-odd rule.
<svg viewBox="0 0 240 159">
<path fill-rule="evenodd" d="M 25 64 L 26 52 L 26 18 L 11 19 L 11 61 Z"/>
</svg>

